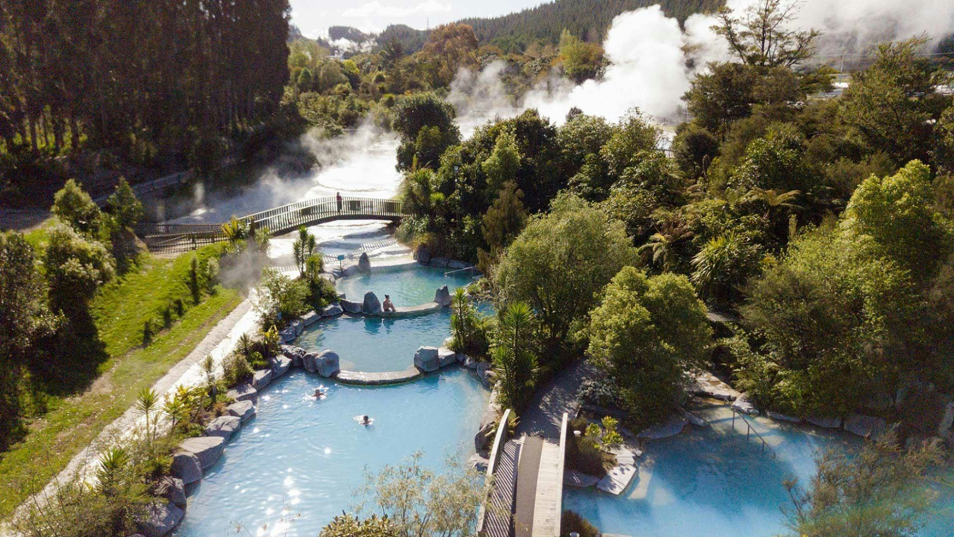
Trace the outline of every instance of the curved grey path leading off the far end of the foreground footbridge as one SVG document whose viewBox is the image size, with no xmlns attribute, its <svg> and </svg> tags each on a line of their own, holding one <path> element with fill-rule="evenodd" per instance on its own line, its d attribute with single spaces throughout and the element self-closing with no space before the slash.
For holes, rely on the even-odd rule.
<svg viewBox="0 0 954 537">
<path fill-rule="evenodd" d="M 545 439 L 560 438 L 560 425 L 563 422 L 563 413 L 576 417 L 580 403 L 576 399 L 576 392 L 580 384 L 590 376 L 596 374 L 595 368 L 579 360 L 570 367 L 561 371 L 530 400 L 527 410 L 520 415 L 517 425 L 517 436 L 527 435 Z"/>
</svg>

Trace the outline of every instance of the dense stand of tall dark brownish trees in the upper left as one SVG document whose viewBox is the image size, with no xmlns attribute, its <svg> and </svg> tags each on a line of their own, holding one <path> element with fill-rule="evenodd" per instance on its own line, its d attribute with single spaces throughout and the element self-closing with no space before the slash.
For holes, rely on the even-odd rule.
<svg viewBox="0 0 954 537">
<path fill-rule="evenodd" d="M 287 0 L 0 1 L 3 197 L 214 160 L 276 112 L 288 17 Z"/>
</svg>

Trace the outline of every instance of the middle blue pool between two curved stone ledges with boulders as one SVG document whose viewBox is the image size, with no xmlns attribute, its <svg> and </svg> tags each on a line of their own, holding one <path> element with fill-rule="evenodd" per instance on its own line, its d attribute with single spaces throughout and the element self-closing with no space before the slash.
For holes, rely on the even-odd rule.
<svg viewBox="0 0 954 537">
<path fill-rule="evenodd" d="M 331 349 L 341 356 L 345 371 L 404 371 L 414 363 L 418 347 L 440 347 L 448 335 L 450 311 L 445 308 L 415 317 L 325 319 L 305 329 L 295 345 L 316 353 Z"/>
</svg>

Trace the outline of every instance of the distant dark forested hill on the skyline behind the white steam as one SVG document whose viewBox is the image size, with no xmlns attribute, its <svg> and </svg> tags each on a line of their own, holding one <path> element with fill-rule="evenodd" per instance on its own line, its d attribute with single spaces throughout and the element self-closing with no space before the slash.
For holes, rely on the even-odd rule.
<svg viewBox="0 0 954 537">
<path fill-rule="evenodd" d="M 602 41 L 613 17 L 654 4 L 659 4 L 668 16 L 682 22 L 693 13 L 715 11 L 723 0 L 556 0 L 500 17 L 469 18 L 459 22 L 472 26 L 482 45 L 517 52 L 532 43 L 556 45 L 564 29 L 587 41 Z M 405 52 L 410 53 L 421 48 L 426 34 L 404 25 L 391 26 L 384 30 L 379 42 L 395 39 Z"/>
</svg>

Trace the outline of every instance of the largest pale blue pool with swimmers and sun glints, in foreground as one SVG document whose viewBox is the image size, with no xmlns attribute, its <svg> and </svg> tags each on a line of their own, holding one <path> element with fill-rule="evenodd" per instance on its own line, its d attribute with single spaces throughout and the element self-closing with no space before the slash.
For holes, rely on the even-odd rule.
<svg viewBox="0 0 954 537">
<path fill-rule="evenodd" d="M 308 397 L 321 385 L 327 397 Z M 314 537 L 355 504 L 365 467 L 376 471 L 423 450 L 425 464 L 439 469 L 447 456 L 473 453 L 487 397 L 469 371 L 456 367 L 377 388 L 293 371 L 265 389 L 258 416 L 191 492 L 176 535 L 236 534 L 241 525 L 248 530 L 242 535 Z M 353 420 L 362 414 L 374 424 Z"/>
</svg>

